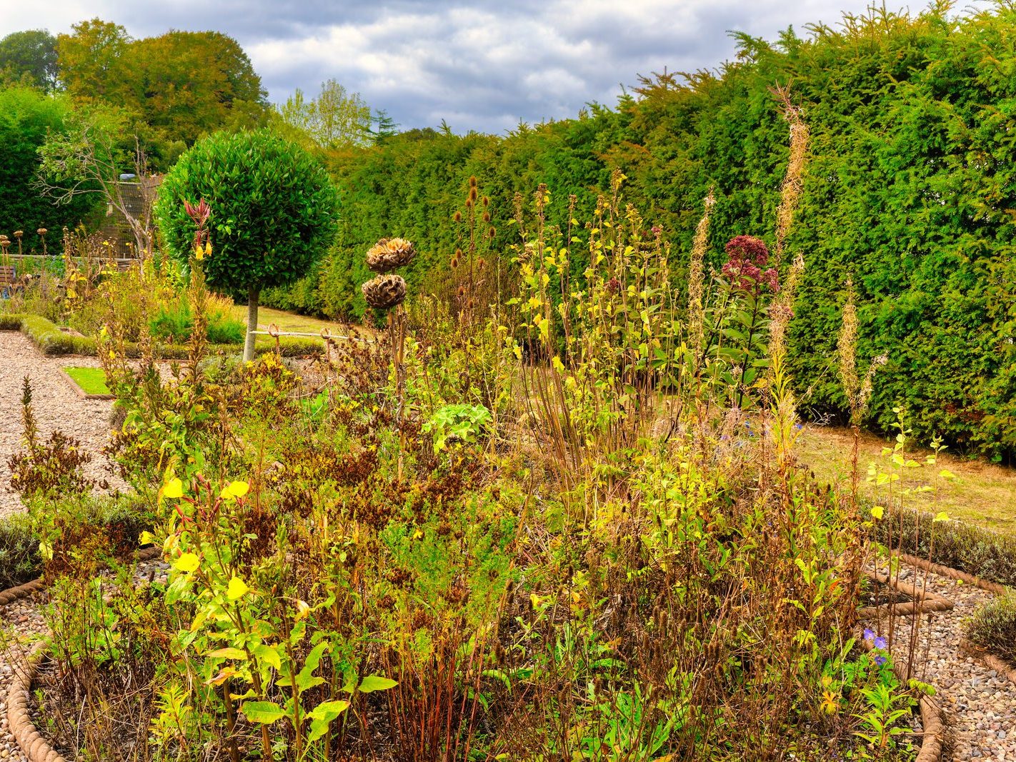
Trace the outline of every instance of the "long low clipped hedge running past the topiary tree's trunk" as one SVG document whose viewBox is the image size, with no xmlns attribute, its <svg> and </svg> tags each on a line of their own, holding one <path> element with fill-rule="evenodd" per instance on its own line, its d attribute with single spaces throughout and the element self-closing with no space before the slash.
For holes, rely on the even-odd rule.
<svg viewBox="0 0 1016 762">
<path fill-rule="evenodd" d="M 20 330 L 44 355 L 49 357 L 60 355 L 96 357 L 98 354 L 96 339 L 89 336 L 75 336 L 66 333 L 41 315 L 0 314 L 0 330 Z M 279 350 L 282 357 L 293 358 L 320 355 L 324 352 L 324 345 L 315 338 L 282 336 L 279 340 Z M 208 352 L 212 354 L 240 354 L 242 351 L 242 344 L 208 344 Z M 258 355 L 273 351 L 274 346 L 271 345 L 261 345 L 255 350 Z M 158 355 L 165 360 L 184 360 L 187 358 L 187 354 L 186 344 L 158 345 Z M 132 358 L 140 356 L 137 344 L 127 344 L 127 356 Z"/>
</svg>

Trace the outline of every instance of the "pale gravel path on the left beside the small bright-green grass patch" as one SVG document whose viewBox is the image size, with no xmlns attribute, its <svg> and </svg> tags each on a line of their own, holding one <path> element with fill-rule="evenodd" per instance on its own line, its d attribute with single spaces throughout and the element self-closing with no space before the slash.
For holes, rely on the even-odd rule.
<svg viewBox="0 0 1016 762">
<path fill-rule="evenodd" d="M 31 379 L 33 409 L 41 438 L 47 439 L 57 429 L 75 437 L 91 453 L 85 474 L 108 480 L 111 489 L 127 489 L 119 479 L 107 473 L 106 456 L 102 454 L 110 436 L 113 402 L 78 397 L 58 372 L 66 365 L 98 366 L 99 361 L 47 358 L 20 331 L 0 331 L 0 516 L 23 510 L 20 497 L 9 491 L 7 459 L 21 450 L 21 381 L 26 375 Z"/>
</svg>

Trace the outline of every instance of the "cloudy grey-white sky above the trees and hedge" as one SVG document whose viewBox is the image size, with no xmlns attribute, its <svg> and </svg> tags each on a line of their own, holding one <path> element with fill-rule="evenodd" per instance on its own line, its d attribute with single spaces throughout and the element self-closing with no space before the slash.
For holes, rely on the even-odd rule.
<svg viewBox="0 0 1016 762">
<path fill-rule="evenodd" d="M 728 30 L 772 39 L 835 24 L 871 0 L 0 0 L 0 37 L 100 17 L 133 37 L 216 29 L 247 51 L 272 101 L 334 77 L 403 128 L 447 120 L 502 132 L 613 105 L 637 74 L 712 68 Z M 890 7 L 902 3 L 889 2 Z M 918 4 L 914 9 L 923 6 Z"/>
</svg>

